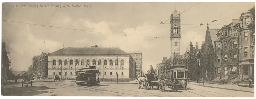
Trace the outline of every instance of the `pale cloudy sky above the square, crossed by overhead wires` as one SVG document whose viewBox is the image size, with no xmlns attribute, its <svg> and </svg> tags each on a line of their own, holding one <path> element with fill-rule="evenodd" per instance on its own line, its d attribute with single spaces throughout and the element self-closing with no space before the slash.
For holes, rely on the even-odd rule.
<svg viewBox="0 0 256 99">
<path fill-rule="evenodd" d="M 32 8 L 29 4 L 86 4 L 91 7 Z M 201 45 L 201 41 L 204 41 L 207 25 L 198 26 L 199 24 L 210 23 L 216 19 L 209 28 L 221 28 L 223 24 L 239 19 L 242 12 L 255 6 L 255 3 L 243 2 L 196 4 L 198 3 L 3 3 L 2 42 L 6 43 L 7 50 L 11 53 L 9 59 L 12 60 L 13 71 L 28 70 L 33 56 L 42 53 L 45 40 L 45 49 L 50 53 L 62 49 L 63 46 L 93 45 L 119 47 L 127 53 L 140 52 L 142 68 L 146 72 L 150 65 L 155 68 L 156 63 L 161 63 L 163 57 L 169 58 L 171 55 L 168 19 L 175 7 L 178 12 L 182 12 L 180 50 L 185 53 L 190 42 Z M 192 8 L 189 9 L 190 7 Z M 165 24 L 159 24 L 160 22 Z M 160 36 L 164 37 L 154 39 Z"/>
</svg>

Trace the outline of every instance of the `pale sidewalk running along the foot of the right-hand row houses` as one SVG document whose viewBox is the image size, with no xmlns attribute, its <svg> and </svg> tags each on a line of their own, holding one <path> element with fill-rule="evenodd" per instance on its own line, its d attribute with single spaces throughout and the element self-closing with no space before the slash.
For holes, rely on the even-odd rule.
<svg viewBox="0 0 256 99">
<path fill-rule="evenodd" d="M 204 86 L 204 87 L 210 87 L 210 88 L 219 88 L 219 89 L 228 89 L 228 90 L 235 90 L 235 91 L 244 91 L 244 92 L 251 92 L 254 93 L 254 88 L 248 88 L 248 87 L 240 87 L 237 84 L 212 84 L 212 83 L 199 83 L 197 82 L 188 82 L 188 84 L 198 85 L 198 86 Z"/>
</svg>

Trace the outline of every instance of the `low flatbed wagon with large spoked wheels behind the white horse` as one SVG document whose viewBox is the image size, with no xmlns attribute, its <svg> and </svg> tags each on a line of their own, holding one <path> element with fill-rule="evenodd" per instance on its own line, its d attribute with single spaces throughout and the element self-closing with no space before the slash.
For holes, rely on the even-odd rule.
<svg viewBox="0 0 256 99">
<path fill-rule="evenodd" d="M 150 86 L 156 86 L 157 89 L 159 89 L 160 91 L 164 91 L 166 87 L 171 88 L 174 92 L 178 91 L 179 87 L 181 86 L 181 84 L 178 84 L 177 82 L 172 82 L 169 81 L 167 79 L 155 79 L 152 78 L 153 75 L 148 76 L 149 79 L 146 80 L 145 82 L 145 89 L 149 89 Z"/>
</svg>

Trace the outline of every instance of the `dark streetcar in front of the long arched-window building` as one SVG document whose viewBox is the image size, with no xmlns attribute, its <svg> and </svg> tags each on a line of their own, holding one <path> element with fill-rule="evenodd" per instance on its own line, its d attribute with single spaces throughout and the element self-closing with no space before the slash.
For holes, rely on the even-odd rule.
<svg viewBox="0 0 256 99">
<path fill-rule="evenodd" d="M 80 68 L 76 71 L 75 79 L 77 85 L 87 84 L 88 86 L 97 86 L 100 83 L 99 70 L 96 66 Z"/>
</svg>

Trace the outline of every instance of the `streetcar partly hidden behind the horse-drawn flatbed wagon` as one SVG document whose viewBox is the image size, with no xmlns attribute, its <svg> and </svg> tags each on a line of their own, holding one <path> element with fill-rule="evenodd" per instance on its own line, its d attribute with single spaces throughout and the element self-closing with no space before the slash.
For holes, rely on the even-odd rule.
<svg viewBox="0 0 256 99">
<path fill-rule="evenodd" d="M 166 79 L 181 84 L 180 88 L 187 88 L 188 69 L 185 66 L 172 66 L 166 71 Z"/>
</svg>

